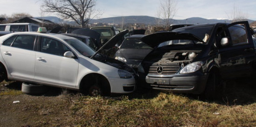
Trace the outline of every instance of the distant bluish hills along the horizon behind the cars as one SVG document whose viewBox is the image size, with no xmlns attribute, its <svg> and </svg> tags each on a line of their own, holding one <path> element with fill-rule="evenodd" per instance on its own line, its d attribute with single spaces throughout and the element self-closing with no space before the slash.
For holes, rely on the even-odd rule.
<svg viewBox="0 0 256 127">
<path fill-rule="evenodd" d="M 35 18 L 41 18 L 41 19 L 47 19 L 50 21 L 53 21 L 55 23 L 60 23 L 60 22 L 65 22 L 65 23 L 74 23 L 70 21 L 65 21 L 57 17 L 49 16 L 49 17 L 35 17 Z M 146 25 L 155 25 L 157 20 L 162 20 L 159 18 L 155 17 L 150 17 L 150 16 L 123 16 L 123 17 L 110 17 L 110 18 L 101 18 L 101 19 L 92 19 L 89 23 L 93 24 L 96 22 L 100 23 L 110 23 L 110 24 L 124 24 L 127 23 L 136 23 L 136 24 L 146 24 Z M 172 23 L 171 24 L 208 24 L 208 23 L 217 23 L 217 22 L 231 22 L 231 20 L 218 20 L 218 19 L 204 19 L 200 17 L 192 17 L 192 18 L 187 18 L 183 20 L 176 20 L 176 19 L 171 19 L 170 20 Z M 248 20 L 249 23 L 254 22 L 254 20 Z"/>
</svg>

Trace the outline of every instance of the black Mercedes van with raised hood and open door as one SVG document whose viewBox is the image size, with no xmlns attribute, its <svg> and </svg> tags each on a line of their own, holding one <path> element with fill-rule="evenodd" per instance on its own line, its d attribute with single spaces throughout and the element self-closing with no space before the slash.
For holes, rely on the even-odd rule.
<svg viewBox="0 0 256 127">
<path fill-rule="evenodd" d="M 256 58 L 247 21 L 182 27 L 141 40 L 154 49 L 138 67 L 140 84 L 207 98 L 218 95 L 221 79 L 250 76 Z"/>
</svg>

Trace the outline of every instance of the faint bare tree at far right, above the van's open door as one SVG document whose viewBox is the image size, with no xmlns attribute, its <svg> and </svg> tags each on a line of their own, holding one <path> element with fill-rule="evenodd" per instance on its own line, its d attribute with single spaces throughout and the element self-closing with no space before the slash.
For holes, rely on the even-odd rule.
<svg viewBox="0 0 256 127">
<path fill-rule="evenodd" d="M 247 20 L 248 16 L 247 13 L 243 13 L 234 5 L 233 10 L 231 11 L 230 15 L 228 15 L 228 18 L 232 20 L 231 22 L 237 22 Z"/>
</svg>

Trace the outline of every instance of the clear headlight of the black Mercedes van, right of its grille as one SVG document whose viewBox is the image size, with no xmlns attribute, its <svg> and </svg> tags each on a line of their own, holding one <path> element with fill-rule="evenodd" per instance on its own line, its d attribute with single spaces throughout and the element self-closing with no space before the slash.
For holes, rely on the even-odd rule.
<svg viewBox="0 0 256 127">
<path fill-rule="evenodd" d="M 192 73 L 195 72 L 197 70 L 199 70 L 203 65 L 202 61 L 198 61 L 198 62 L 194 62 L 194 63 L 190 63 L 188 65 L 186 65 L 181 71 L 180 74 L 186 74 L 186 73 Z"/>
</svg>

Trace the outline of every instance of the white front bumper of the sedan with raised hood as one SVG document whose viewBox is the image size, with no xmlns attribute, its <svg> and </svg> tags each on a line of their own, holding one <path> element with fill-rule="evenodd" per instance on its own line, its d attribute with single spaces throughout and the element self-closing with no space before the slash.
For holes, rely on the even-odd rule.
<svg viewBox="0 0 256 127">
<path fill-rule="evenodd" d="M 131 93 L 136 89 L 136 82 L 134 78 L 108 78 L 111 88 L 111 93 Z"/>
</svg>

